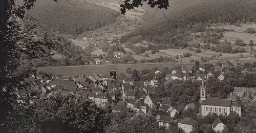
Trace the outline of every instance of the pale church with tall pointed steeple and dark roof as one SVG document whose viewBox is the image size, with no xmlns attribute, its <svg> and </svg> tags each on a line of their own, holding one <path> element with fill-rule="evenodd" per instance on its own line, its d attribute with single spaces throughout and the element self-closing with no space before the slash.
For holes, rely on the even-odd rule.
<svg viewBox="0 0 256 133">
<path fill-rule="evenodd" d="M 207 87 L 204 83 L 204 75 L 200 87 L 200 115 L 207 116 L 210 113 L 217 115 L 238 114 L 240 117 L 241 106 L 229 99 L 207 98 Z"/>
</svg>

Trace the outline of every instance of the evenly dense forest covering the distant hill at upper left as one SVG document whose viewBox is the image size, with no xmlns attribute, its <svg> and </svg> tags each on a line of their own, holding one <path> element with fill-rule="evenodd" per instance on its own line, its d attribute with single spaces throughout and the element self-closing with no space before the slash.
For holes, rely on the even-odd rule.
<svg viewBox="0 0 256 133">
<path fill-rule="evenodd" d="M 78 35 L 114 23 L 120 15 L 115 10 L 78 1 L 38 1 L 27 14 L 47 28 L 62 34 Z"/>
</svg>

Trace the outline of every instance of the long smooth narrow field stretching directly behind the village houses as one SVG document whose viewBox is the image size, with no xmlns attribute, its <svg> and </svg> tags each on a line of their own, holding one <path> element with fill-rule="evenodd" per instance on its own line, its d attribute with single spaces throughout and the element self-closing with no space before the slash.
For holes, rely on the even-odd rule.
<svg viewBox="0 0 256 133">
<path fill-rule="evenodd" d="M 55 75 L 63 76 L 74 76 L 82 74 L 109 74 L 110 70 L 117 70 L 118 73 L 125 73 L 127 68 L 133 68 L 136 70 L 158 68 L 163 70 L 164 67 L 169 69 L 174 68 L 175 66 L 191 66 L 189 63 L 140 63 L 140 64 L 103 64 L 103 65 L 77 65 L 77 66 L 61 66 L 61 67 L 52 67 L 52 68 L 37 68 L 37 73 L 40 71 L 52 73 Z M 194 65 L 194 63 L 193 63 Z"/>
</svg>

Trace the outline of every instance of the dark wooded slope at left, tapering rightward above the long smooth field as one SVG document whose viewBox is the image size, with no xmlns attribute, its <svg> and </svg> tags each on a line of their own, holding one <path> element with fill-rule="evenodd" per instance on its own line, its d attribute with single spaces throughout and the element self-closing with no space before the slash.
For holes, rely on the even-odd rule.
<svg viewBox="0 0 256 133">
<path fill-rule="evenodd" d="M 22 67 L 18 70 L 20 73 L 39 66 L 81 65 L 92 59 L 90 53 L 41 26 L 31 16 L 19 20 L 18 25 L 18 47 L 33 47 L 33 50 L 25 49 L 21 53 Z"/>
</svg>

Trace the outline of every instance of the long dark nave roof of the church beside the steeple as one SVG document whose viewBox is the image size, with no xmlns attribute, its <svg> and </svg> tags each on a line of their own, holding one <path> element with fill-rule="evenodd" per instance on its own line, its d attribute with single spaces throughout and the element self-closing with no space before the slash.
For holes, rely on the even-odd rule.
<svg viewBox="0 0 256 133">
<path fill-rule="evenodd" d="M 207 98 L 206 100 L 203 100 L 202 105 L 215 105 L 215 106 L 225 106 L 230 107 L 231 106 L 231 100 L 229 99 L 219 99 L 219 98 Z"/>
</svg>

